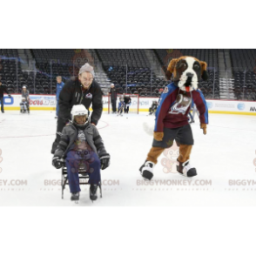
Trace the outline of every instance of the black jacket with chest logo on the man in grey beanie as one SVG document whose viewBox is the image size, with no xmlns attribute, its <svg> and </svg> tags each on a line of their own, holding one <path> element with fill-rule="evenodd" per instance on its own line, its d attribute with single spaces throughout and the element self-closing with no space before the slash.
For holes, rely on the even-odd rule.
<svg viewBox="0 0 256 256">
<path fill-rule="evenodd" d="M 67 81 L 63 90 L 59 95 L 59 118 L 64 122 L 71 119 L 71 109 L 73 105 L 84 104 L 89 111 L 92 103 L 91 123 L 98 125 L 103 111 L 103 92 L 99 84 L 93 81 L 88 91 L 82 91 L 82 84 L 77 79 L 76 81 Z"/>
</svg>

